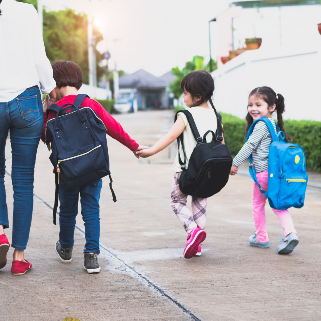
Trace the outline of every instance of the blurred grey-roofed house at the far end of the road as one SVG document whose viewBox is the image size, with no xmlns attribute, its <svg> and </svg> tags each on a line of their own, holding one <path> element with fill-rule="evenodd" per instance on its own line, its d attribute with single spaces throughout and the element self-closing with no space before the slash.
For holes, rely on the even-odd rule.
<svg viewBox="0 0 321 321">
<path fill-rule="evenodd" d="M 138 108 L 143 110 L 173 108 L 173 97 L 168 85 L 174 78 L 171 72 L 156 77 L 140 69 L 119 78 L 118 98 L 135 99 Z"/>
</svg>

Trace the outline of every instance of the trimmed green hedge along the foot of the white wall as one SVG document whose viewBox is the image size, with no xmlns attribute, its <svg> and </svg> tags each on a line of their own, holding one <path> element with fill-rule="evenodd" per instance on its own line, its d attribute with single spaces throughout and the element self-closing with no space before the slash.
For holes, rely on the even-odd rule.
<svg viewBox="0 0 321 321">
<path fill-rule="evenodd" d="M 175 112 L 183 107 L 175 107 Z M 224 141 L 230 153 L 236 155 L 245 143 L 246 120 L 230 114 L 221 113 L 225 131 Z M 284 120 L 284 129 L 293 137 L 294 144 L 300 145 L 307 157 L 307 167 L 321 169 L 321 122 L 312 120 Z"/>
</svg>

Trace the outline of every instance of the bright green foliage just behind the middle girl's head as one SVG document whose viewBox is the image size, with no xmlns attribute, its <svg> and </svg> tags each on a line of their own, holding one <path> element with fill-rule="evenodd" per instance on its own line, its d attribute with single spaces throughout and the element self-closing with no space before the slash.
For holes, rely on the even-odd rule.
<svg viewBox="0 0 321 321">
<path fill-rule="evenodd" d="M 176 78 L 171 84 L 169 84 L 169 88 L 174 93 L 174 97 L 176 99 L 178 99 L 183 93 L 180 84 L 187 74 L 191 73 L 194 70 L 206 70 L 207 72 L 210 72 L 210 63 L 208 63 L 206 66 L 204 66 L 203 64 L 204 57 L 194 56 L 192 61 L 187 61 L 185 67 L 182 70 L 180 70 L 178 66 L 172 68 L 172 74 L 175 75 Z M 213 70 L 217 69 L 217 64 L 214 59 L 212 59 L 212 67 Z"/>
</svg>

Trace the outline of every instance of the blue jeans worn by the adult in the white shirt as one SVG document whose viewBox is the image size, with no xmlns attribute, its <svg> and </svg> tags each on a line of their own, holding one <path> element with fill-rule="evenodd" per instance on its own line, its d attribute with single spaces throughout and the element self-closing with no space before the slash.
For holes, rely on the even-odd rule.
<svg viewBox="0 0 321 321">
<path fill-rule="evenodd" d="M 27 247 L 33 209 L 36 154 L 43 128 L 38 86 L 27 88 L 15 99 L 0 102 L 0 224 L 9 227 L 4 187 L 5 144 L 10 130 L 12 149 L 13 222 L 11 246 Z"/>
</svg>

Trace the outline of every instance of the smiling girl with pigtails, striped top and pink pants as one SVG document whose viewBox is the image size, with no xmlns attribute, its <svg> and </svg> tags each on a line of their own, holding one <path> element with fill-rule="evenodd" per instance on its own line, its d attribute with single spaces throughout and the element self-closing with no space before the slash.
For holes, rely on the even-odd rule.
<svg viewBox="0 0 321 321">
<path fill-rule="evenodd" d="M 272 113 L 277 113 L 277 125 L 272 118 Z M 256 231 L 254 235 L 249 237 L 249 242 L 251 246 L 267 248 L 269 247 L 269 238 L 266 231 L 266 219 L 265 219 L 265 202 L 267 199 L 267 191 L 268 189 L 268 182 L 269 185 L 273 182 L 270 181 L 272 179 L 282 179 L 282 169 L 281 175 L 276 175 L 270 173 L 268 169 L 269 167 L 269 151 L 272 142 L 276 142 L 279 140 L 284 140 L 286 143 L 290 143 L 292 141 L 292 137 L 288 137 L 284 127 L 283 127 L 283 119 L 282 113 L 284 112 L 284 98 L 281 94 L 276 94 L 270 87 L 257 87 L 251 91 L 249 98 L 248 98 L 248 106 L 247 106 L 247 127 L 246 127 L 246 134 L 247 134 L 247 142 L 243 145 L 242 149 L 233 159 L 233 165 L 231 168 L 231 174 L 235 173 L 235 170 L 247 159 L 250 160 L 250 172 L 252 170 L 251 175 L 253 175 L 253 179 L 257 180 L 253 182 L 252 188 L 252 212 L 254 217 L 254 223 Z M 258 121 L 262 120 L 262 121 Z M 264 120 L 264 121 L 263 121 Z M 255 122 L 255 123 L 253 123 Z M 253 125 L 252 125 L 253 124 Z M 270 128 L 270 129 L 269 129 Z M 280 136 L 280 134 L 283 135 Z M 278 133 L 279 132 L 279 133 Z M 275 134 L 274 134 L 275 133 Z M 272 135 L 274 137 L 272 137 Z M 287 144 L 291 145 L 292 147 L 300 147 L 298 145 Z M 303 150 L 300 148 L 300 152 L 302 153 Z M 253 160 L 252 160 L 253 159 Z M 299 162 L 299 156 L 293 157 L 293 164 L 297 164 Z M 295 161 L 294 161 L 295 160 Z M 270 160 L 276 162 L 275 159 Z M 304 152 L 301 156 L 301 162 L 303 162 L 303 167 L 305 172 L 305 164 L 304 164 Z M 254 168 L 253 168 L 254 167 Z M 254 173 L 254 174 L 253 174 Z M 279 176 L 277 178 L 277 176 Z M 295 182 L 304 182 L 306 183 L 306 179 L 304 176 L 300 176 L 299 179 L 284 179 L 286 180 L 289 185 L 292 181 Z M 271 183 L 270 183 L 271 182 Z M 281 183 L 279 183 L 281 184 Z M 305 188 L 304 188 L 305 192 Z M 270 192 L 269 192 L 270 194 Z M 281 245 L 277 248 L 277 252 L 279 254 L 288 254 L 291 253 L 299 243 L 299 239 L 297 236 L 297 232 L 294 229 L 293 221 L 291 215 L 287 208 L 291 206 L 275 206 L 271 202 L 270 198 L 269 203 L 272 207 L 273 212 L 276 214 L 278 219 L 281 222 L 284 236 L 285 238 L 281 238 Z M 302 204 L 299 204 L 295 207 L 302 207 L 304 202 L 304 196 Z M 283 209 L 276 209 L 283 208 Z"/>
</svg>

